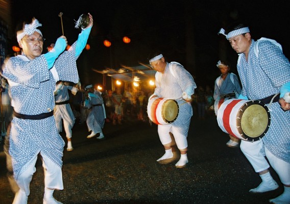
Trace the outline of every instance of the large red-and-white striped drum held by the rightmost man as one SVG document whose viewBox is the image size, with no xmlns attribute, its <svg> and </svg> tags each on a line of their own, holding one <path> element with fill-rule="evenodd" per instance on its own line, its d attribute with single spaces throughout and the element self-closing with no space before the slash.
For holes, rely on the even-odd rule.
<svg viewBox="0 0 290 204">
<path fill-rule="evenodd" d="M 257 141 L 267 133 L 271 117 L 259 100 L 228 99 L 221 104 L 217 120 L 220 128 L 236 138 Z"/>
</svg>

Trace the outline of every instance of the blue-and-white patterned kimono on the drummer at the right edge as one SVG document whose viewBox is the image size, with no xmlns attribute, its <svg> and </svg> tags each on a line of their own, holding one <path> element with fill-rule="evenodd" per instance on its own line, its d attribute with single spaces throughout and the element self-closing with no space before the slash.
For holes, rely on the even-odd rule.
<svg viewBox="0 0 290 204">
<path fill-rule="evenodd" d="M 280 87 L 290 82 L 290 64 L 281 49 L 268 40 L 258 43 L 258 56 L 252 40 L 248 62 L 245 54 L 239 56 L 237 70 L 242 84 L 241 94 L 258 100 L 280 92 Z M 271 124 L 262 138 L 273 155 L 290 163 L 290 111 L 283 111 L 278 102 L 271 106 Z"/>
</svg>

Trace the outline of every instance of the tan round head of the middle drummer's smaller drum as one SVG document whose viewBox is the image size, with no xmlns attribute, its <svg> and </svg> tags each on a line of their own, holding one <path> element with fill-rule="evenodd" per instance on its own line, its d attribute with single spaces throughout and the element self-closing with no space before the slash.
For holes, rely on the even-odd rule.
<svg viewBox="0 0 290 204">
<path fill-rule="evenodd" d="M 162 105 L 162 118 L 167 122 L 173 122 L 178 116 L 178 104 L 176 100 L 168 99 Z"/>
</svg>

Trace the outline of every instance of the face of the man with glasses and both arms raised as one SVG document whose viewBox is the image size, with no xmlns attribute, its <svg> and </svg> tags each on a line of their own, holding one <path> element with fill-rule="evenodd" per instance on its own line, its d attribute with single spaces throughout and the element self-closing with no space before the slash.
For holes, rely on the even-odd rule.
<svg viewBox="0 0 290 204">
<path fill-rule="evenodd" d="M 19 46 L 22 48 L 23 53 L 33 60 L 39 57 L 42 53 L 44 38 L 38 33 L 34 32 L 31 35 L 25 35 L 19 42 Z"/>
</svg>

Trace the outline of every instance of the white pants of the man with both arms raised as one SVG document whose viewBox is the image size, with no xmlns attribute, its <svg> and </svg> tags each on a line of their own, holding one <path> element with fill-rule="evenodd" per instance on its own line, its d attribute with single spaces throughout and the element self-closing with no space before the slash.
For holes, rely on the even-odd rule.
<svg viewBox="0 0 290 204">
<path fill-rule="evenodd" d="M 44 186 L 45 188 L 51 189 L 59 189 L 63 190 L 63 181 L 62 181 L 62 171 L 59 166 L 52 162 L 43 152 L 40 151 L 40 155 L 42 156 L 42 166 L 44 169 Z M 35 163 L 37 160 L 37 155 L 35 158 L 30 160 L 23 168 L 27 168 L 24 172 L 22 172 L 18 179 L 16 180 L 17 185 L 20 189 L 25 191 L 26 195 L 30 194 L 30 182 L 32 180 L 32 176 L 36 171 Z"/>
</svg>

